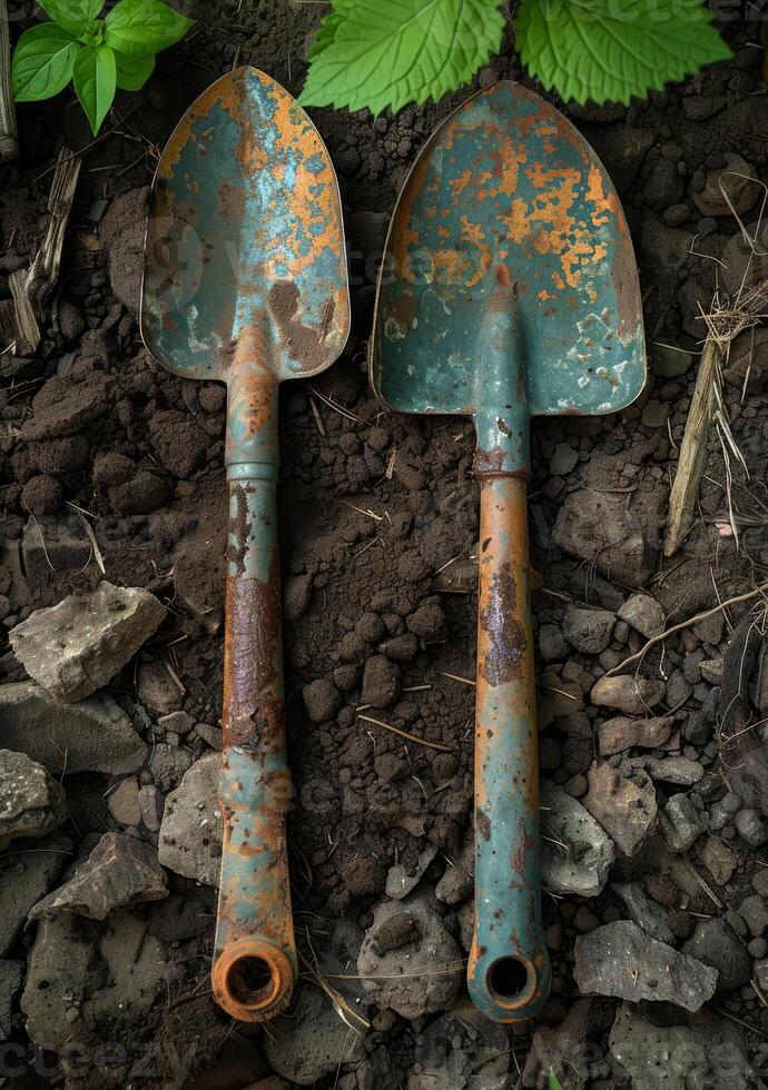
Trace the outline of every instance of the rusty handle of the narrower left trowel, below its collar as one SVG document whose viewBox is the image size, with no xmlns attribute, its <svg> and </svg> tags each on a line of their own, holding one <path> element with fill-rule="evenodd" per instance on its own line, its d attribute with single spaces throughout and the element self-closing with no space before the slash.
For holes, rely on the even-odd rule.
<svg viewBox="0 0 768 1090">
<path fill-rule="evenodd" d="M 277 468 L 229 465 L 224 651 L 224 849 L 213 985 L 233 1018 L 283 1010 L 297 975 L 286 849 Z"/>
</svg>

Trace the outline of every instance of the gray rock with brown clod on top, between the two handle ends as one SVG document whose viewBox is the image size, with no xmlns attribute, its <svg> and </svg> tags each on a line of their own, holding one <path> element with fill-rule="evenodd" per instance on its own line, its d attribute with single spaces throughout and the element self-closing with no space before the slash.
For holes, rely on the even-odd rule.
<svg viewBox="0 0 768 1090">
<path fill-rule="evenodd" d="M 386 901 L 374 910 L 357 959 L 363 988 L 380 1008 L 403 1018 L 419 1018 L 450 1009 L 464 973 L 455 939 L 431 903 L 416 890 L 404 901 Z M 435 965 L 452 965 L 441 972 Z"/>
</svg>

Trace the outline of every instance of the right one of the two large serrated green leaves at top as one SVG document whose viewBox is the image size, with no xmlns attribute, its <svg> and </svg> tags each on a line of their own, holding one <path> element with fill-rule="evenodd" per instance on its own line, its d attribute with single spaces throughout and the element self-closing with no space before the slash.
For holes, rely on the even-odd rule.
<svg viewBox="0 0 768 1090">
<path fill-rule="evenodd" d="M 731 51 L 701 0 L 521 0 L 518 49 L 547 90 L 623 102 Z"/>
</svg>

